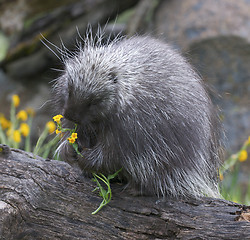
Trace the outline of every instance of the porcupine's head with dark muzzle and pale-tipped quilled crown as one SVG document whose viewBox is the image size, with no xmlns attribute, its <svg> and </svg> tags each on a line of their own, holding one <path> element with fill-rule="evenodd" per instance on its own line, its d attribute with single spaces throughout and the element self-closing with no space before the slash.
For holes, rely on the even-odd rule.
<svg viewBox="0 0 250 240">
<path fill-rule="evenodd" d="M 96 56 L 93 56 L 96 57 Z M 118 76 L 91 56 L 75 56 L 65 64 L 64 74 L 55 85 L 63 116 L 78 125 L 101 123 L 116 105 Z"/>
</svg>

